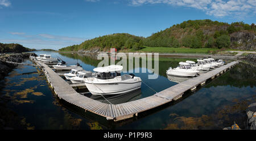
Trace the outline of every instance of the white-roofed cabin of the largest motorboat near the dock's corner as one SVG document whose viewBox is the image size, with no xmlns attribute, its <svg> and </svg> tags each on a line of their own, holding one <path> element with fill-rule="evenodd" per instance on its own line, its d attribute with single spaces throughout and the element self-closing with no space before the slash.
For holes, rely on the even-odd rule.
<svg viewBox="0 0 256 141">
<path fill-rule="evenodd" d="M 122 65 L 109 65 L 106 67 L 94 68 L 93 71 L 97 72 L 97 78 L 106 80 L 121 76 L 122 69 Z"/>
</svg>

